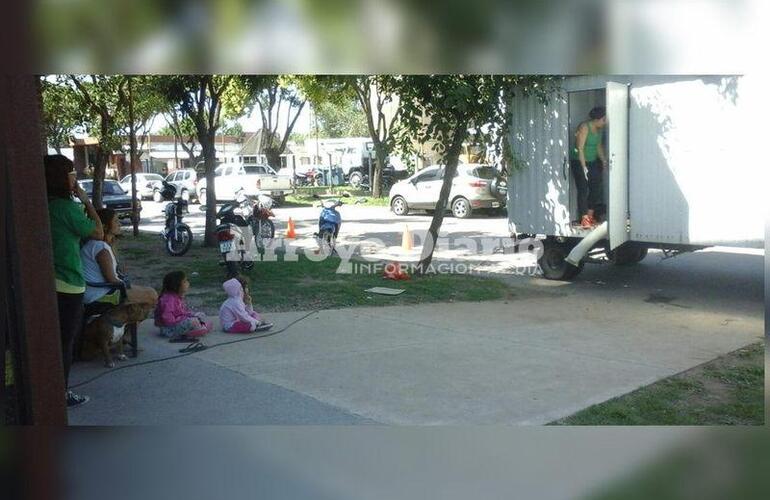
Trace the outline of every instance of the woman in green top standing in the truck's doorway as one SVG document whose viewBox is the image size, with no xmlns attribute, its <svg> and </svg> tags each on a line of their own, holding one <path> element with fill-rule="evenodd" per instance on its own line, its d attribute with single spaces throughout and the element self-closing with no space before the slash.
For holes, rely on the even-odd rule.
<svg viewBox="0 0 770 500">
<path fill-rule="evenodd" d="M 602 129 L 607 125 L 604 106 L 593 108 L 588 121 L 578 125 L 575 147 L 570 155 L 570 170 L 575 179 L 580 227 L 589 229 L 597 224 L 597 212 L 604 210 L 602 172 L 607 165 L 602 145 Z"/>
</svg>

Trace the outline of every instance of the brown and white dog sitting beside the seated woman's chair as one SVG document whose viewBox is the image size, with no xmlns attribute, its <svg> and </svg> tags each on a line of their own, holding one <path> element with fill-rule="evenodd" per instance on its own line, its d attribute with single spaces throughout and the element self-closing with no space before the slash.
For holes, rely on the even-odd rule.
<svg viewBox="0 0 770 500">
<path fill-rule="evenodd" d="M 150 306 L 144 304 L 120 304 L 89 321 L 83 330 L 81 359 L 90 361 L 101 352 L 104 365 L 113 368 L 115 362 L 110 352 L 112 346 L 117 346 L 119 360 L 127 359 L 123 354 L 125 325 L 144 320 L 150 309 Z"/>
</svg>

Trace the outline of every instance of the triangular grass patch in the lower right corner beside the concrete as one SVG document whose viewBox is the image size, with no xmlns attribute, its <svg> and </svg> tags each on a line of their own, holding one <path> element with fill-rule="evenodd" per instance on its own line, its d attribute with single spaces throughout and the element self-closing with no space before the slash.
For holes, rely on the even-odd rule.
<svg viewBox="0 0 770 500">
<path fill-rule="evenodd" d="M 764 344 L 611 399 L 556 425 L 763 425 Z"/>
</svg>

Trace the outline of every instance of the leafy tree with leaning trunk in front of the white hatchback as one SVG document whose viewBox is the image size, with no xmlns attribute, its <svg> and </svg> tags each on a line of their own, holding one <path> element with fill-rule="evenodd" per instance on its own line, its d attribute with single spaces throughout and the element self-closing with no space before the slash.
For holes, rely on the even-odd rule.
<svg viewBox="0 0 770 500">
<path fill-rule="evenodd" d="M 505 148 L 505 143 L 510 130 L 508 105 L 511 98 L 520 93 L 545 100 L 551 79 L 505 75 L 404 75 L 382 77 L 380 83 L 384 92 L 399 99 L 400 117 L 394 131 L 397 147 L 409 153 L 415 140 L 421 144 L 432 143 L 433 150 L 445 165 L 438 204 L 417 266 L 417 272 L 424 273 L 428 272 L 433 259 L 463 143 L 482 145 L 498 157 L 509 154 L 510 149 Z"/>
</svg>

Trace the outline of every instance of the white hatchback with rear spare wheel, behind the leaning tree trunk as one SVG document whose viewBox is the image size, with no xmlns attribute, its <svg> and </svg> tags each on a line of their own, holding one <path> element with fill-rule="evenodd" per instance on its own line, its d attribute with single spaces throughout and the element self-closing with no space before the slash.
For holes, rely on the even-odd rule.
<svg viewBox="0 0 770 500">
<path fill-rule="evenodd" d="M 396 215 L 407 215 L 412 209 L 432 211 L 436 209 L 444 167 L 427 167 L 390 188 L 390 209 Z M 490 165 L 463 163 L 457 166 L 449 193 L 447 207 L 452 215 L 463 219 L 476 209 L 502 208 L 505 206 L 505 181 Z"/>
</svg>

